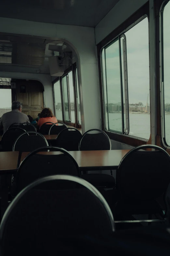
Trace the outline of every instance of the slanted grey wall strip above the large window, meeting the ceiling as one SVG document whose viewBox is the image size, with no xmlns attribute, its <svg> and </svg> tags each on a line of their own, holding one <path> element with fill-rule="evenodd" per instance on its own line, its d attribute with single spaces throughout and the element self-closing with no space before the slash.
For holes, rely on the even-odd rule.
<svg viewBox="0 0 170 256">
<path fill-rule="evenodd" d="M 96 44 L 120 26 L 148 0 L 120 0 L 95 27 Z"/>
</svg>

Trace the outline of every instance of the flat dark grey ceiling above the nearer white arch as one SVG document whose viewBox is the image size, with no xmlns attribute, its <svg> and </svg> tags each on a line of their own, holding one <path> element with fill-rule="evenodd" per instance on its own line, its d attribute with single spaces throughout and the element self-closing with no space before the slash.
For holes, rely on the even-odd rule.
<svg viewBox="0 0 170 256">
<path fill-rule="evenodd" d="M 0 17 L 95 27 L 119 0 L 1 1 Z"/>
</svg>

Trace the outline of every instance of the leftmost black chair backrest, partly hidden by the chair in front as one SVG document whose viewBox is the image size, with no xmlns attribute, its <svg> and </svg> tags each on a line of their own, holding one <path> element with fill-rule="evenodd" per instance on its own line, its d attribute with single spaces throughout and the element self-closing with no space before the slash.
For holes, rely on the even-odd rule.
<svg viewBox="0 0 170 256">
<path fill-rule="evenodd" d="M 1 139 L 3 151 L 12 151 L 13 144 L 18 136 L 24 133 L 25 130 L 19 127 L 13 127 L 6 130 Z"/>
</svg>

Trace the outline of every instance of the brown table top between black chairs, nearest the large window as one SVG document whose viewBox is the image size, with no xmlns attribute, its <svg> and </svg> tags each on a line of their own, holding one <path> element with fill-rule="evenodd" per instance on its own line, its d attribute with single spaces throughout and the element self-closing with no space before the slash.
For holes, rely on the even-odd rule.
<svg viewBox="0 0 170 256">
<path fill-rule="evenodd" d="M 121 159 L 129 152 L 129 150 L 96 150 L 96 151 L 70 151 L 80 168 L 88 169 L 116 169 Z M 29 154 L 23 152 L 21 161 Z M 39 152 L 39 154 L 55 155 L 60 152 Z"/>
</svg>

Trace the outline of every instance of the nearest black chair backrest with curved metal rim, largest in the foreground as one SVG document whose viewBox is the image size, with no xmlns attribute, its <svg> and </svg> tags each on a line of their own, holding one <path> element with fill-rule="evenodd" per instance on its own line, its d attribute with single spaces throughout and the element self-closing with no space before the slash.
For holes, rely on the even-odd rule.
<svg viewBox="0 0 170 256">
<path fill-rule="evenodd" d="M 64 189 L 58 186 L 61 182 Z M 67 188 L 67 182 L 78 186 Z M 0 225 L 1 255 L 52 255 L 65 235 L 113 231 L 111 210 L 92 184 L 69 175 L 49 176 L 23 189 L 7 208 Z"/>
</svg>

